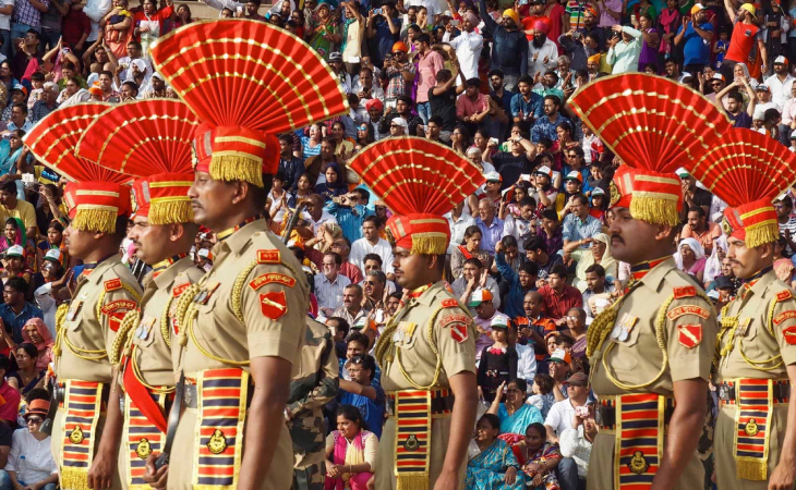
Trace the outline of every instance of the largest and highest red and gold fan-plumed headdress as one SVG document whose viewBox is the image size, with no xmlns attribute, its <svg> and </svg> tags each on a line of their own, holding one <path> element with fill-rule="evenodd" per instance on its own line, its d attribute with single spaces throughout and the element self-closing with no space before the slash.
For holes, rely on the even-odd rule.
<svg viewBox="0 0 796 490">
<path fill-rule="evenodd" d="M 279 166 L 278 133 L 348 113 L 329 65 L 307 44 L 249 20 L 194 22 L 156 41 L 157 70 L 208 125 L 216 180 L 263 186 Z M 198 152 L 198 151 L 197 151 Z"/>
</svg>

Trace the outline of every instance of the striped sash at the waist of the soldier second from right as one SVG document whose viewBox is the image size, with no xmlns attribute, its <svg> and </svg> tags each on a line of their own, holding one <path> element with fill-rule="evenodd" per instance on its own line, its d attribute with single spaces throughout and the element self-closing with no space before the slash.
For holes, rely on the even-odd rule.
<svg viewBox="0 0 796 490">
<path fill-rule="evenodd" d="M 616 396 L 614 481 L 619 490 L 648 490 L 663 453 L 664 396 Z"/>
</svg>

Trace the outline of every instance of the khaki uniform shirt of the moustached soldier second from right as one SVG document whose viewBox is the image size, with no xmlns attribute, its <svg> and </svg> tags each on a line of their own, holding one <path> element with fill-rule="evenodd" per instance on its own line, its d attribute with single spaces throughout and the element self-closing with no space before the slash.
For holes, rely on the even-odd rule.
<svg viewBox="0 0 796 490">
<path fill-rule="evenodd" d="M 701 290 L 676 268 L 674 259 L 660 264 L 635 285 L 616 315 L 618 328 L 623 323 L 631 328 L 627 338 L 619 340 L 610 334 L 602 348 L 590 359 L 591 384 L 598 396 L 626 393 L 672 396 L 675 381 L 709 380 L 715 350 L 715 313 L 711 304 L 696 295 L 697 291 Z M 656 381 L 650 383 L 664 362 L 655 334 L 659 309 L 673 294 L 675 298 L 664 317 L 668 366 Z M 619 388 L 608 378 L 603 364 L 611 376 L 624 384 L 650 384 L 634 390 Z"/>
</svg>

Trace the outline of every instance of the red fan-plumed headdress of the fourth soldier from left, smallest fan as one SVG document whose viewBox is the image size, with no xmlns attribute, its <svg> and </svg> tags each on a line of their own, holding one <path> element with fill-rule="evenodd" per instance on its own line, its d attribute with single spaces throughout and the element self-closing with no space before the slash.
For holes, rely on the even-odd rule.
<svg viewBox="0 0 796 490">
<path fill-rule="evenodd" d="M 443 215 L 484 180 L 474 163 L 450 148 L 409 136 L 365 147 L 350 167 L 395 212 L 387 221 L 390 242 L 412 254 L 445 254 L 450 228 Z"/>
</svg>

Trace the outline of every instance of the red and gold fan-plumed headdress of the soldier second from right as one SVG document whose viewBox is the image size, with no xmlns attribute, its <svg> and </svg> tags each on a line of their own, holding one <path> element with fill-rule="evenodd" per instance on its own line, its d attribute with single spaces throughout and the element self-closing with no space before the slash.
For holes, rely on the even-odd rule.
<svg viewBox="0 0 796 490">
<path fill-rule="evenodd" d="M 614 175 L 612 204 L 650 223 L 679 223 L 683 192 L 675 170 L 731 127 L 700 94 L 642 73 L 599 78 L 569 105 L 625 163 Z"/>
</svg>

